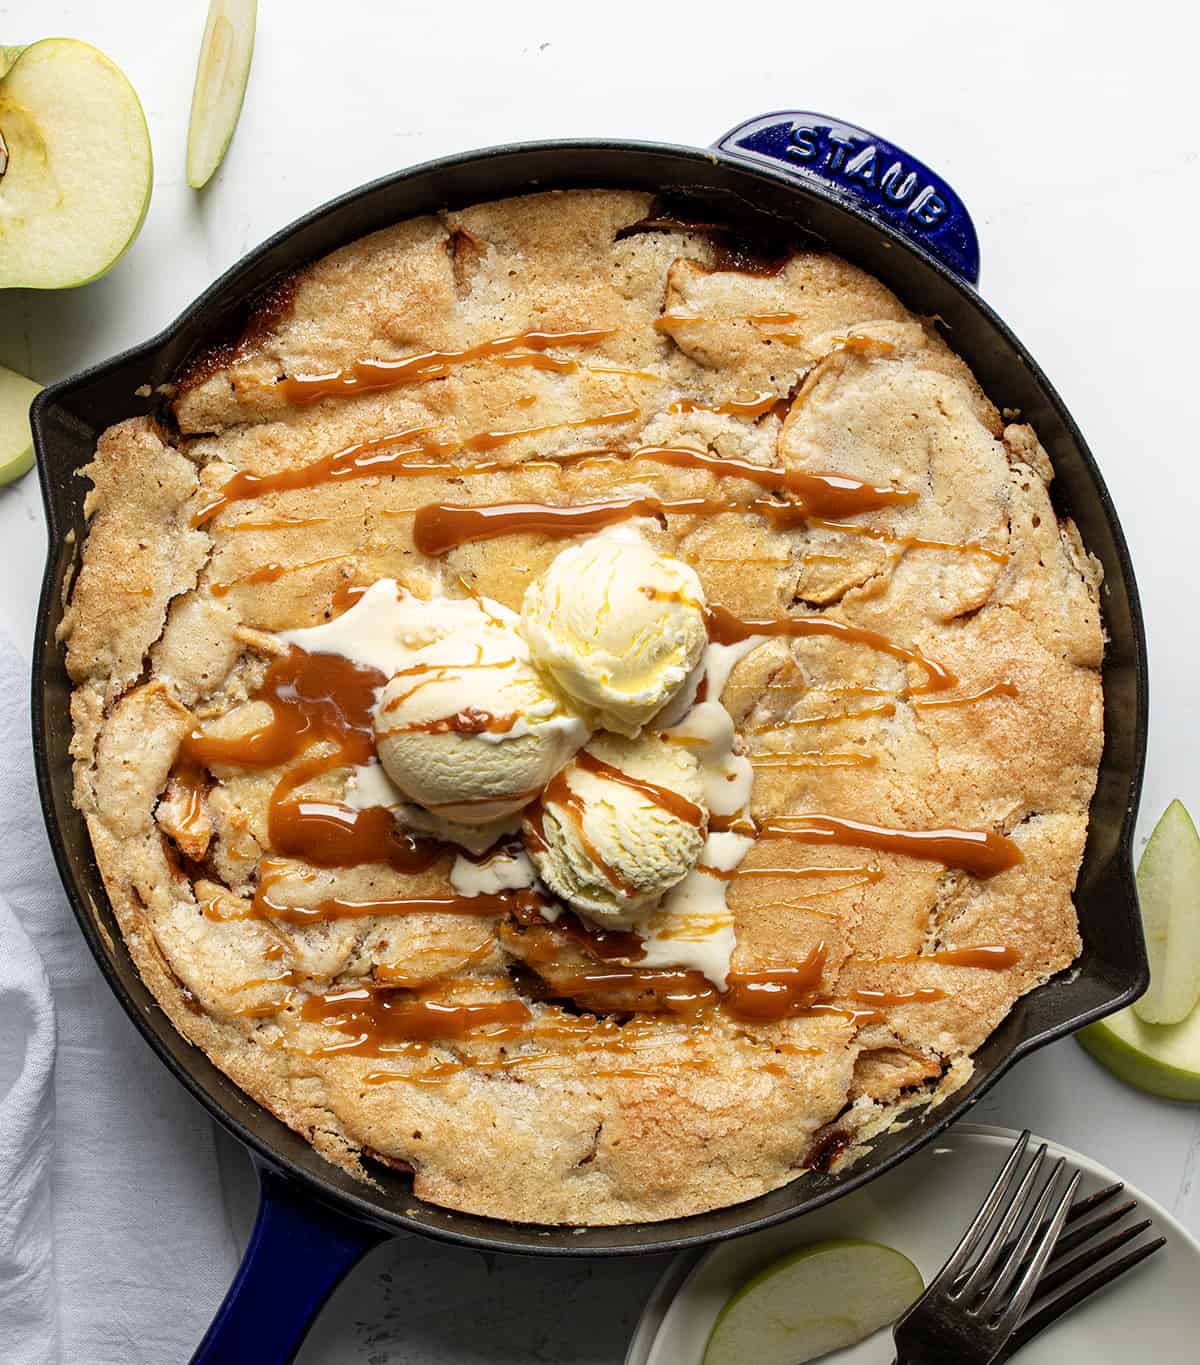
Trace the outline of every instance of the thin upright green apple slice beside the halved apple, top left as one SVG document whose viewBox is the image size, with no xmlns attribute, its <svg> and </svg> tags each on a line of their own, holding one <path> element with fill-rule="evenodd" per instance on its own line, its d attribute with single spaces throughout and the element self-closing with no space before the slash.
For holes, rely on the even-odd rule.
<svg viewBox="0 0 1200 1365">
<path fill-rule="evenodd" d="M 258 0 L 212 0 L 209 5 L 187 126 L 187 183 L 192 190 L 209 183 L 238 127 L 257 12 Z"/>
</svg>

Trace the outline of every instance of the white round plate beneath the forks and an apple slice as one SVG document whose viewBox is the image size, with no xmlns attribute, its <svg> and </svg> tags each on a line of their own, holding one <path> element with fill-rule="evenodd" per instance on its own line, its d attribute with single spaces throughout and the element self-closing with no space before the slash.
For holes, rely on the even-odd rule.
<svg viewBox="0 0 1200 1365">
<path fill-rule="evenodd" d="M 685 1252 L 650 1295 L 625 1365 L 699 1365 L 729 1295 L 778 1256 L 810 1242 L 830 1237 L 885 1242 L 916 1261 L 928 1282 L 971 1222 L 1016 1136 L 1010 1129 L 960 1123 L 827 1208 L 707 1252 Z M 1121 1179 L 1069 1147 L 1048 1147 L 1053 1156 L 1065 1156 L 1083 1171 L 1081 1194 Z M 1144 1237 L 1162 1234 L 1167 1245 L 1044 1331 L 1017 1357 L 1021 1365 L 1184 1365 L 1200 1357 L 1200 1242 L 1154 1200 L 1132 1186 L 1126 1194 L 1139 1203 L 1129 1222 L 1152 1218 L 1154 1228 Z M 890 1365 L 893 1358 L 890 1330 L 823 1357 L 829 1365 Z"/>
</svg>

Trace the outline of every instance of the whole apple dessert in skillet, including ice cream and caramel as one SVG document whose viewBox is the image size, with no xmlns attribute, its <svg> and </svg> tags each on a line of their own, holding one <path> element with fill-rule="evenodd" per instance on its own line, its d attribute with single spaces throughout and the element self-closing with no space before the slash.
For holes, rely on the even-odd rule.
<svg viewBox="0 0 1200 1365">
<path fill-rule="evenodd" d="M 1099 565 L 1035 433 L 837 257 L 623 191 L 401 222 L 83 472 L 122 932 L 362 1179 L 747 1200 L 939 1103 L 1077 956 Z"/>
</svg>

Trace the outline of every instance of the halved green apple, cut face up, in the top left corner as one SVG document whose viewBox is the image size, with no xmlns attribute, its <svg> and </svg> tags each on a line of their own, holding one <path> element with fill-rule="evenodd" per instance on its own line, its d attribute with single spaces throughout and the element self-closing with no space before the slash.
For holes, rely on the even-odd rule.
<svg viewBox="0 0 1200 1365">
<path fill-rule="evenodd" d="M 150 202 L 146 119 L 120 67 L 86 42 L 0 48 L 0 288 L 104 274 Z"/>
</svg>

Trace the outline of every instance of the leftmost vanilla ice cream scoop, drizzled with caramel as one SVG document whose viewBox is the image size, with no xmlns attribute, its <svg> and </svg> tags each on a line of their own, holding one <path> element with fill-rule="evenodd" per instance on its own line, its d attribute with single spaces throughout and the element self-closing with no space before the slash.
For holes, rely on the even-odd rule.
<svg viewBox="0 0 1200 1365">
<path fill-rule="evenodd" d="M 475 620 L 396 672 L 375 707 L 375 748 L 411 801 L 460 824 L 487 824 L 534 800 L 587 740 L 513 628 L 485 603 Z"/>
</svg>

